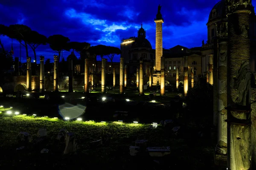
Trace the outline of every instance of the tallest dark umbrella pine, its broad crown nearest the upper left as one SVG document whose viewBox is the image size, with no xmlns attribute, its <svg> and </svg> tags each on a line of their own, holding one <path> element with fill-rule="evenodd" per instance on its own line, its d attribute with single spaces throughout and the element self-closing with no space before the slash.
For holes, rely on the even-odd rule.
<svg viewBox="0 0 256 170">
<path fill-rule="evenodd" d="M 15 24 L 9 26 L 8 37 L 16 39 L 26 48 L 26 57 L 29 57 L 28 40 L 31 29 L 22 24 Z"/>
</svg>

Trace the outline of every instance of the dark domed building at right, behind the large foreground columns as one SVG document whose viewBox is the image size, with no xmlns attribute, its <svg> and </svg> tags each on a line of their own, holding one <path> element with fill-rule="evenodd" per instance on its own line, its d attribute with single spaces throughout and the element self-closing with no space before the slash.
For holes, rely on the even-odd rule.
<svg viewBox="0 0 256 170">
<path fill-rule="evenodd" d="M 206 73 L 207 64 L 209 63 L 209 55 L 217 54 L 217 37 L 227 38 L 227 9 L 225 0 L 220 0 L 218 3 L 213 6 L 212 10 L 209 13 L 209 19 L 207 22 L 207 41 L 202 42 L 202 73 Z M 249 28 L 249 37 L 251 41 L 251 57 L 254 59 L 256 57 L 256 16 L 254 9 L 250 14 L 250 28 Z M 255 49 L 255 50 L 254 50 Z M 228 51 L 227 46 L 221 51 Z M 227 53 L 226 53 L 227 55 Z M 255 61 L 251 61 L 255 63 Z M 255 70 L 255 66 L 251 65 L 252 70 Z"/>
</svg>

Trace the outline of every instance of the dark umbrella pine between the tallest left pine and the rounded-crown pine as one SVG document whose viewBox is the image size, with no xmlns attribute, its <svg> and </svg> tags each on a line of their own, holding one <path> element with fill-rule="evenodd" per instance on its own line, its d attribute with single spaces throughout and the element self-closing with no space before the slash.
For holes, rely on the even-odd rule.
<svg viewBox="0 0 256 170">
<path fill-rule="evenodd" d="M 37 64 L 37 59 L 36 59 L 36 53 L 35 49 L 39 45 L 46 45 L 47 44 L 47 37 L 45 37 L 42 34 L 39 34 L 37 31 L 30 31 L 29 36 L 28 36 L 28 42 L 27 44 L 32 48 L 32 51 L 34 52 L 34 57 L 35 57 L 35 65 Z"/>
</svg>

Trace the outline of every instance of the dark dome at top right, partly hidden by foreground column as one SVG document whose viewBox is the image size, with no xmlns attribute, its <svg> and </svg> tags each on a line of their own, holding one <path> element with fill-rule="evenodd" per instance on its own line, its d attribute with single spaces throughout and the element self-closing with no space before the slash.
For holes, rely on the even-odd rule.
<svg viewBox="0 0 256 170">
<path fill-rule="evenodd" d="M 221 0 L 215 4 L 209 14 L 209 20 L 219 19 L 219 18 L 227 18 L 227 10 L 226 10 L 226 2 L 225 0 Z"/>
</svg>

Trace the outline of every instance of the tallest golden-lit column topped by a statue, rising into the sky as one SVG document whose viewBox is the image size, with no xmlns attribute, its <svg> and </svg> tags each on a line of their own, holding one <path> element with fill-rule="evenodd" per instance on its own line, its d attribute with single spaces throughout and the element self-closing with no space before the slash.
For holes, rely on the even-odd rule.
<svg viewBox="0 0 256 170">
<path fill-rule="evenodd" d="M 161 8 L 160 8 L 161 9 Z M 161 57 L 163 56 L 163 18 L 158 7 L 156 23 L 156 72 L 161 70 Z"/>
</svg>

